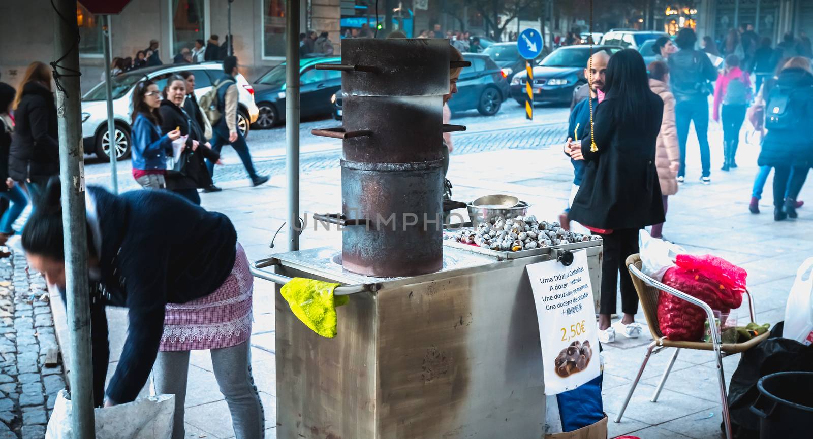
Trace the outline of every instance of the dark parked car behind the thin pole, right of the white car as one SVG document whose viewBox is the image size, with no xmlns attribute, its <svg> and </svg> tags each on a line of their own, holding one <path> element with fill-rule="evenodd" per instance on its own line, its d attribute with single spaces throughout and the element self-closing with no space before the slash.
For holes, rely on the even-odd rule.
<svg viewBox="0 0 813 439">
<path fill-rule="evenodd" d="M 341 63 L 341 58 L 302 58 L 299 61 L 299 114 L 331 114 L 330 97 L 341 88 L 341 71 L 316 70 L 316 64 Z M 259 107 L 256 127 L 271 128 L 285 120 L 285 62 L 254 81 L 254 101 Z"/>
</svg>

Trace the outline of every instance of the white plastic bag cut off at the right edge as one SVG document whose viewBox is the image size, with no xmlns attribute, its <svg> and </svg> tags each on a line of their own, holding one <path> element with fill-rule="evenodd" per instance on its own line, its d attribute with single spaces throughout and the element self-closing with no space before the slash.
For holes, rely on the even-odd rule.
<svg viewBox="0 0 813 439">
<path fill-rule="evenodd" d="M 796 282 L 790 289 L 785 307 L 783 338 L 796 340 L 804 345 L 813 343 L 813 257 L 807 258 L 796 272 Z M 802 277 L 807 273 L 807 278 Z"/>
</svg>

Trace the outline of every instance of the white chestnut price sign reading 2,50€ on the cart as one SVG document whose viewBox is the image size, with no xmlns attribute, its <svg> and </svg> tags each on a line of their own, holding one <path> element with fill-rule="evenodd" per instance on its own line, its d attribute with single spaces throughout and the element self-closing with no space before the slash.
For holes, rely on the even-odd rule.
<svg viewBox="0 0 813 439">
<path fill-rule="evenodd" d="M 598 377 L 598 326 L 587 252 L 573 263 L 558 260 L 528 265 L 537 307 L 545 394 L 560 394 Z"/>
</svg>

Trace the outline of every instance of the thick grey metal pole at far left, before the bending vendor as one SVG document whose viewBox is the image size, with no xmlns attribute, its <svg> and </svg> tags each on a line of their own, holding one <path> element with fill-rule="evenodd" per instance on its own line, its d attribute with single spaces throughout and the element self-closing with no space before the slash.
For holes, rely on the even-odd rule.
<svg viewBox="0 0 813 439">
<path fill-rule="evenodd" d="M 74 437 L 96 437 L 93 424 L 93 364 L 90 348 L 90 295 L 88 294 L 88 243 L 85 220 L 85 162 L 82 152 L 80 120 L 79 28 L 76 27 L 76 2 L 56 2 L 54 49 L 59 61 L 57 91 L 59 126 L 59 179 L 62 183 L 62 217 L 65 240 L 65 280 L 67 289 L 67 328 L 71 334 L 71 401 Z"/>
</svg>

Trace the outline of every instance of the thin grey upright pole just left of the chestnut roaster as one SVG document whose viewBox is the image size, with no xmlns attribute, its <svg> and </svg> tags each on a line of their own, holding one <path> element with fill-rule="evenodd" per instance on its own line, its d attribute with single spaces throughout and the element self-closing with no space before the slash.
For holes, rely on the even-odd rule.
<svg viewBox="0 0 813 439">
<path fill-rule="evenodd" d="M 299 2 L 285 2 L 285 174 L 288 177 L 288 250 L 299 250 Z"/>
</svg>

